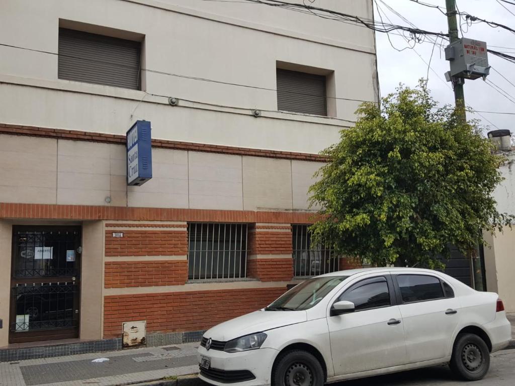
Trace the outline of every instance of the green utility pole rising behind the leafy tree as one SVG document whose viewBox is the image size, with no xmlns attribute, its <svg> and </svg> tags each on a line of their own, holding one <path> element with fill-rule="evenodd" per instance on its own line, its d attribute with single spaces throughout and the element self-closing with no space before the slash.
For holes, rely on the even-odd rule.
<svg viewBox="0 0 515 386">
<path fill-rule="evenodd" d="M 447 8 L 447 24 L 449 26 L 449 40 L 451 44 L 459 40 L 458 36 L 458 22 L 456 20 L 457 12 L 456 12 L 456 3 L 455 0 L 445 0 L 445 8 Z M 452 85 L 454 89 L 454 100 L 456 103 L 456 107 L 458 108 L 458 113 L 460 115 L 460 120 L 464 123 L 467 122 L 467 112 L 465 111 L 465 94 L 463 91 L 463 85 L 465 84 L 465 78 L 463 77 L 453 77 Z M 476 248 L 474 251 L 470 253 L 470 259 L 472 260 L 472 270 L 473 270 L 473 285 L 474 289 L 477 291 L 484 291 L 483 288 L 483 269 L 481 265 L 481 260 L 479 256 L 479 250 Z"/>
</svg>

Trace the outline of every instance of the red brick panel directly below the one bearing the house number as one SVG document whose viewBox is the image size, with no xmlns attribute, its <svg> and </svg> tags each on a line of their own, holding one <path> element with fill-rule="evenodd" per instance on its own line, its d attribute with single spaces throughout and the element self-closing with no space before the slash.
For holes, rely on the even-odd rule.
<svg viewBox="0 0 515 386">
<path fill-rule="evenodd" d="M 173 286 L 186 283 L 186 260 L 106 261 L 106 288 Z"/>
</svg>

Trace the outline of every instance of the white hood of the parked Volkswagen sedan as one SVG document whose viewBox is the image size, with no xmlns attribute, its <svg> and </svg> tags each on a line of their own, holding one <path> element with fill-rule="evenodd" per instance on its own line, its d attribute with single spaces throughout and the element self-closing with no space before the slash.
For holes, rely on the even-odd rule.
<svg viewBox="0 0 515 386">
<path fill-rule="evenodd" d="M 220 323 L 206 331 L 204 337 L 226 342 L 253 332 L 262 332 L 306 320 L 306 311 L 260 310 Z"/>
</svg>

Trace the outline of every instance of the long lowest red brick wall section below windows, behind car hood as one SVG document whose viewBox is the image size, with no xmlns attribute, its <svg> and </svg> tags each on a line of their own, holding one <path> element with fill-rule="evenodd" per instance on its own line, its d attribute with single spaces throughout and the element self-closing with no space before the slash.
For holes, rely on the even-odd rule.
<svg viewBox="0 0 515 386">
<path fill-rule="evenodd" d="M 146 320 L 147 332 L 208 329 L 258 310 L 286 287 L 105 296 L 104 338 L 122 335 L 122 323 Z"/>
</svg>

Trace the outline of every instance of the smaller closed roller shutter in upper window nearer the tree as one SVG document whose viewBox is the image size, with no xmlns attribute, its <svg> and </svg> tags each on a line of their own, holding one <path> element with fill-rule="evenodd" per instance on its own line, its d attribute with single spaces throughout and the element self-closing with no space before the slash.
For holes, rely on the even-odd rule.
<svg viewBox="0 0 515 386">
<path fill-rule="evenodd" d="M 277 108 L 327 115 L 325 76 L 277 69 Z"/>
</svg>

